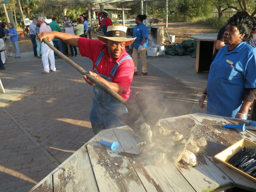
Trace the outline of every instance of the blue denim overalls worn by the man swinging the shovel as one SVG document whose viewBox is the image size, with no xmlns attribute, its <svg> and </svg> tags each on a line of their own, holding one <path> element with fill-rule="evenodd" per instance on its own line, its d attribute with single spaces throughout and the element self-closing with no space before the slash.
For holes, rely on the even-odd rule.
<svg viewBox="0 0 256 192">
<path fill-rule="evenodd" d="M 99 65 L 103 55 L 104 53 L 101 51 L 95 63 L 96 67 Z M 109 77 L 99 74 L 96 68 L 93 69 L 93 72 L 97 73 L 105 80 L 112 82 L 110 76 L 113 77 L 115 75 L 115 72 L 119 67 L 120 63 L 122 63 L 126 59 L 132 58 L 130 57 L 130 55 L 128 55 L 125 58 L 121 59 L 119 62 L 117 62 L 112 68 Z M 125 124 L 118 117 L 123 113 L 127 113 L 127 108 L 114 97 L 110 96 L 108 93 L 104 92 L 96 85 L 93 85 L 93 92 L 93 105 L 90 111 L 90 121 L 92 124 L 93 133 L 96 135 L 104 129 L 124 126 Z"/>
</svg>

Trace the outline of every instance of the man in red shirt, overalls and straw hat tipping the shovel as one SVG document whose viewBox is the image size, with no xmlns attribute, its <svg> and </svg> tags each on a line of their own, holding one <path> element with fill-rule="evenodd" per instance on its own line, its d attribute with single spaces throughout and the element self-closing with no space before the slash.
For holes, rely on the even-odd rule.
<svg viewBox="0 0 256 192">
<path fill-rule="evenodd" d="M 128 100 L 134 62 L 126 52 L 125 46 L 131 44 L 135 38 L 127 38 L 126 30 L 125 26 L 109 26 L 106 37 L 98 36 L 101 41 L 57 31 L 39 33 L 38 37 L 40 40 L 47 38 L 48 41 L 57 38 L 79 47 L 80 54 L 93 61 L 93 72 L 89 71 L 89 74 Z M 118 117 L 127 113 L 127 108 L 93 84 L 86 76 L 83 77 L 88 84 L 93 85 L 94 97 L 90 111 L 93 133 L 97 134 L 103 129 L 125 125 Z"/>
</svg>

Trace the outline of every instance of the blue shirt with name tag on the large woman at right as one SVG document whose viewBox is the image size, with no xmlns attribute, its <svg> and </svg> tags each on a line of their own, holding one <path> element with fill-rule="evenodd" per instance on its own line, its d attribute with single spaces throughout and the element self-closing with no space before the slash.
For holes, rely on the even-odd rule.
<svg viewBox="0 0 256 192">
<path fill-rule="evenodd" d="M 246 42 L 222 47 L 210 66 L 207 114 L 235 117 L 246 88 L 256 88 L 256 49 Z"/>
</svg>

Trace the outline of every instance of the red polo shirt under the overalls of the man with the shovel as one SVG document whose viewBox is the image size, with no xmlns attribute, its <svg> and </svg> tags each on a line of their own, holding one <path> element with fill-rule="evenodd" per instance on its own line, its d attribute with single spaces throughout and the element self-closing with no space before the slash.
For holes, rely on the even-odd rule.
<svg viewBox="0 0 256 192">
<path fill-rule="evenodd" d="M 103 43 L 99 40 L 93 40 L 93 39 L 86 39 L 86 38 L 79 38 L 78 40 L 78 48 L 80 51 L 80 54 L 83 57 L 88 57 L 93 61 L 93 69 L 96 67 L 95 63 L 96 60 L 101 52 L 103 50 L 104 56 L 102 57 L 99 65 L 96 67 L 97 72 L 101 75 L 111 77 L 112 82 L 119 84 L 123 89 L 124 92 L 120 94 L 125 100 L 128 100 L 130 96 L 130 84 L 133 79 L 134 74 L 134 62 L 132 59 L 126 59 L 124 60 L 120 66 L 117 68 L 116 73 L 114 77 L 110 76 L 110 72 L 116 62 L 120 61 L 127 55 L 129 55 L 126 50 L 122 52 L 121 56 L 118 59 L 109 59 L 108 55 L 108 49 L 106 47 L 106 43 Z"/>
</svg>

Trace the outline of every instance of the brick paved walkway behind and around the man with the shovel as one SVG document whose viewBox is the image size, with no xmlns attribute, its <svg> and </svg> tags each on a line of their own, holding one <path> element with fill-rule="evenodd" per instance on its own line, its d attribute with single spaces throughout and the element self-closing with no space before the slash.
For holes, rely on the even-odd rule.
<svg viewBox="0 0 256 192">
<path fill-rule="evenodd" d="M 87 58 L 74 61 L 91 69 Z M 148 58 L 148 76 L 134 76 L 130 100 L 139 91 L 166 105 L 163 118 L 188 114 L 196 91 L 150 63 Z M 40 59 L 9 63 L 0 72 L 7 88 L 31 89 L 31 94 L 0 108 L 3 192 L 31 189 L 93 137 L 89 120 L 92 87 L 62 59 L 56 60 L 56 72 L 42 74 L 41 65 Z"/>
</svg>

